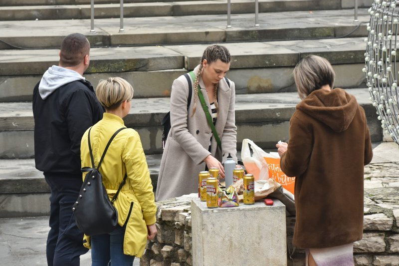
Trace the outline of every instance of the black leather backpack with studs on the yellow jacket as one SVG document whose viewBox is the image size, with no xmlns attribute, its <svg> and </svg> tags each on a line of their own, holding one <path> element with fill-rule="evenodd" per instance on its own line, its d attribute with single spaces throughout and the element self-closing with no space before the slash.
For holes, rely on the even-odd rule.
<svg viewBox="0 0 399 266">
<path fill-rule="evenodd" d="M 83 167 L 81 169 L 82 173 L 87 172 L 87 174 L 80 189 L 79 197 L 72 207 L 76 225 L 87 236 L 111 233 L 118 225 L 118 212 L 113 203 L 125 184 L 127 175 L 123 178 L 118 191 L 115 193 L 112 201 L 110 201 L 99 169 L 112 140 L 125 128 L 126 127 L 118 129 L 114 135 L 112 135 L 97 167 L 94 165 L 93 152 L 90 145 L 91 128 L 89 129 L 88 142 L 92 167 Z"/>
</svg>

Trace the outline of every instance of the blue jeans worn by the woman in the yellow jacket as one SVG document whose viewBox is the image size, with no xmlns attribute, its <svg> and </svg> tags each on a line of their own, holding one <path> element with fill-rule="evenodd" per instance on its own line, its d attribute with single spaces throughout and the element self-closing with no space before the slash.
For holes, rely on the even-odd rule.
<svg viewBox="0 0 399 266">
<path fill-rule="evenodd" d="M 132 266 L 134 256 L 123 254 L 125 228 L 91 237 L 91 266 Z"/>
</svg>

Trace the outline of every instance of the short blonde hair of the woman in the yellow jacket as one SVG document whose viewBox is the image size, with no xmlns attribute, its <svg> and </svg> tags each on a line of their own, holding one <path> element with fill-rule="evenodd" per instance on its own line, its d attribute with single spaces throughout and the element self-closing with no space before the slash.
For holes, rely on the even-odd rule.
<svg viewBox="0 0 399 266">
<path fill-rule="evenodd" d="M 96 88 L 96 96 L 107 110 L 118 108 L 122 102 L 133 98 L 133 87 L 121 77 L 101 79 Z"/>
</svg>

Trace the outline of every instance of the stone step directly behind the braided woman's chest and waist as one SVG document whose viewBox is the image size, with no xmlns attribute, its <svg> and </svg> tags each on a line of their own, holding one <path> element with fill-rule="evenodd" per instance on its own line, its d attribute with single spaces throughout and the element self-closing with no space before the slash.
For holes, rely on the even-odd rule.
<svg viewBox="0 0 399 266">
<path fill-rule="evenodd" d="M 382 128 L 367 89 L 348 89 L 365 108 L 373 142 L 382 141 Z M 237 148 L 249 138 L 264 149 L 274 148 L 279 140 L 287 140 L 289 119 L 299 97 L 295 92 L 242 94 L 236 97 L 235 121 Z M 146 154 L 162 153 L 161 121 L 169 111 L 170 98 L 133 99 L 132 109 L 124 119 L 127 127 L 141 136 Z M 32 104 L 0 103 L 0 159 L 32 158 Z"/>
</svg>

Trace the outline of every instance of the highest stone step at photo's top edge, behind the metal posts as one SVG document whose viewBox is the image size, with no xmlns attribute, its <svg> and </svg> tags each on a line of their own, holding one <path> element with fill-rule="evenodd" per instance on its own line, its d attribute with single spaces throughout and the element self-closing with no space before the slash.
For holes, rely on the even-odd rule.
<svg viewBox="0 0 399 266">
<path fill-rule="evenodd" d="M 341 0 L 259 0 L 259 12 L 341 9 Z M 253 13 L 254 0 L 232 0 L 231 13 Z M 124 17 L 226 14 L 225 0 L 134 2 L 124 4 Z M 0 6 L 0 20 L 90 18 L 90 4 Z M 94 17 L 120 16 L 119 3 L 95 4 Z"/>
</svg>

